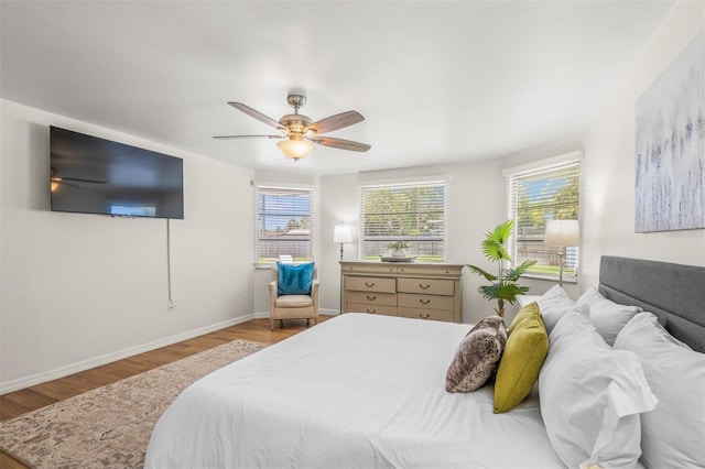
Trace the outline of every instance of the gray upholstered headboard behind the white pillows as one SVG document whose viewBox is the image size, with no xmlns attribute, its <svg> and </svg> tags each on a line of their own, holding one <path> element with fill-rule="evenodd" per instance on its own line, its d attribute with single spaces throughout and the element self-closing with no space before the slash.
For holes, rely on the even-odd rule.
<svg viewBox="0 0 705 469">
<path fill-rule="evenodd" d="M 653 313 L 673 337 L 705 352 L 705 268 L 604 255 L 598 291 Z"/>
</svg>

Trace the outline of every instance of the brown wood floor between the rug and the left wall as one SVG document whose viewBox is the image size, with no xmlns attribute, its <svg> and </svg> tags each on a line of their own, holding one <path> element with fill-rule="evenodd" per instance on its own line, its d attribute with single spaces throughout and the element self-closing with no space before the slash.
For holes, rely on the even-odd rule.
<svg viewBox="0 0 705 469">
<path fill-rule="evenodd" d="M 318 316 L 318 321 L 329 318 L 329 316 Z M 305 319 L 288 319 L 284 321 L 283 328 L 279 327 L 279 321 L 276 321 L 273 331 L 270 330 L 269 319 L 253 319 L 184 340 L 183 342 L 173 343 L 156 350 L 104 364 L 102 367 L 0 395 L 0 422 L 161 367 L 162 364 L 181 360 L 182 358 L 227 343 L 231 340 L 245 339 L 262 343 L 276 343 L 305 329 Z M 0 468 L 18 469 L 26 468 L 26 466 L 0 451 Z"/>
</svg>

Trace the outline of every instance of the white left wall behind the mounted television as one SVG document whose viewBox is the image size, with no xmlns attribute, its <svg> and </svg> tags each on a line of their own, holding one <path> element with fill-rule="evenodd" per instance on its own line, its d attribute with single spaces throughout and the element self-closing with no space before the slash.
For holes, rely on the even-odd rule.
<svg viewBox="0 0 705 469">
<path fill-rule="evenodd" d="M 252 315 L 251 172 L 1 101 L 0 391 L 8 392 Z M 48 126 L 184 160 L 185 219 L 52 212 Z"/>
</svg>

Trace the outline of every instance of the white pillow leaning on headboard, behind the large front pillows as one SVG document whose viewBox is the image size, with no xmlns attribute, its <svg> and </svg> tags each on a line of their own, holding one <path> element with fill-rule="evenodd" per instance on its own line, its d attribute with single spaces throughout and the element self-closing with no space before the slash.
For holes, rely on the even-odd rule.
<svg viewBox="0 0 705 469">
<path fill-rule="evenodd" d="M 638 306 L 626 306 L 605 298 L 595 288 L 589 288 L 581 296 L 576 304 L 581 306 L 583 315 L 589 317 L 603 339 L 609 345 L 615 343 L 617 334 L 642 309 Z"/>
</svg>

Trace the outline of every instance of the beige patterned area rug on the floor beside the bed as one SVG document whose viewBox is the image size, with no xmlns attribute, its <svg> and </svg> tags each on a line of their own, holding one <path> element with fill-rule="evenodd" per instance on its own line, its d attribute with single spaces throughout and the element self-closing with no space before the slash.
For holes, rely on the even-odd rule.
<svg viewBox="0 0 705 469">
<path fill-rule="evenodd" d="M 234 340 L 0 424 L 0 449 L 37 469 L 141 468 L 156 421 L 189 384 L 265 345 Z"/>
</svg>

